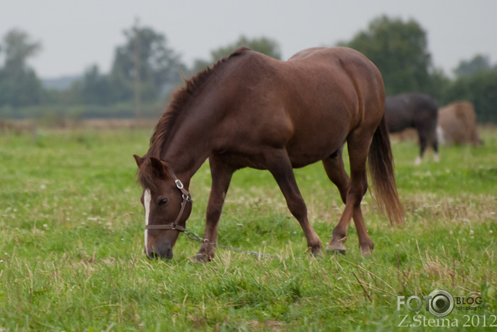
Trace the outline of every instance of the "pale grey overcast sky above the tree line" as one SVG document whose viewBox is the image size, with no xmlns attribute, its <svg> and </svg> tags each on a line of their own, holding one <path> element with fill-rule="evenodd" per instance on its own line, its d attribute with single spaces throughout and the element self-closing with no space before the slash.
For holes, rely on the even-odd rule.
<svg viewBox="0 0 497 332">
<path fill-rule="evenodd" d="M 349 41 L 387 15 L 416 20 L 434 66 L 451 74 L 476 54 L 497 63 L 496 13 L 494 0 L 0 0 L 0 38 L 18 28 L 41 42 L 29 64 L 39 77 L 57 78 L 94 64 L 108 72 L 123 31 L 137 18 L 163 33 L 191 66 L 240 35 L 276 40 L 287 59 L 308 47 Z"/>
</svg>

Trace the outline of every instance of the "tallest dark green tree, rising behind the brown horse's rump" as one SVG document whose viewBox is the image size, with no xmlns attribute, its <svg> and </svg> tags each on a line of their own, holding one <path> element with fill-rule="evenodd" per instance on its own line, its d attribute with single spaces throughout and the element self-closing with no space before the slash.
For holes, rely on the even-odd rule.
<svg viewBox="0 0 497 332">
<path fill-rule="evenodd" d="M 427 51 L 426 33 L 410 19 L 373 19 L 367 31 L 360 31 L 342 46 L 364 53 L 382 73 L 387 94 L 430 92 L 431 56 Z"/>
</svg>

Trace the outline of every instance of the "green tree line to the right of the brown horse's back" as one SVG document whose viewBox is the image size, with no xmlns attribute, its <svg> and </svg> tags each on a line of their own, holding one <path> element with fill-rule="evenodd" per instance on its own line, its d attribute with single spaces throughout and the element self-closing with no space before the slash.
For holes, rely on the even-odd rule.
<svg viewBox="0 0 497 332">
<path fill-rule="evenodd" d="M 414 19 L 407 22 L 386 16 L 370 22 L 352 40 L 339 43 L 364 53 L 382 73 L 386 94 L 425 92 L 439 106 L 471 101 L 478 122 L 497 122 L 497 64 L 487 56 L 462 60 L 454 78 L 434 67 L 427 49 L 427 34 Z"/>
</svg>

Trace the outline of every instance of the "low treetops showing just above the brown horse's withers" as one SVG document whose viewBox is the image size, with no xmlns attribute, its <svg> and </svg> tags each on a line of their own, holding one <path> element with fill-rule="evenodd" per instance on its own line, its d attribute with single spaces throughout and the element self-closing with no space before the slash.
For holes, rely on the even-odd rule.
<svg viewBox="0 0 497 332">
<path fill-rule="evenodd" d="M 238 40 L 226 47 L 219 47 L 211 51 L 210 60 L 196 60 L 193 65 L 193 72 L 199 72 L 200 70 L 208 67 L 209 65 L 215 63 L 216 61 L 229 56 L 233 51 L 240 47 L 248 47 L 254 51 L 266 54 L 275 59 L 281 59 L 281 51 L 279 49 L 279 44 L 275 40 L 271 40 L 266 37 L 249 39 L 244 35 L 241 35 Z"/>
</svg>

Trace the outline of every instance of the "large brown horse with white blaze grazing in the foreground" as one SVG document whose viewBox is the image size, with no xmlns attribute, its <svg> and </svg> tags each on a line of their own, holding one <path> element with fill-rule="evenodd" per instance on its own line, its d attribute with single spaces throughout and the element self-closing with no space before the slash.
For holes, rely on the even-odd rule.
<svg viewBox="0 0 497 332">
<path fill-rule="evenodd" d="M 307 246 L 312 254 L 320 253 L 321 240 L 309 223 L 293 175 L 293 167 L 319 160 L 345 203 L 327 249 L 345 253 L 343 242 L 354 219 L 359 247 L 368 254 L 373 241 L 361 213 L 368 155 L 377 198 L 391 222 L 403 219 L 383 114 L 382 76 L 357 51 L 314 48 L 281 61 L 238 49 L 186 81 L 158 121 L 147 154 L 134 156 L 143 188 L 145 254 L 172 257 L 191 211 L 190 179 L 206 158 L 212 187 L 206 240 L 197 260 L 214 257 L 231 175 L 243 167 L 271 172 L 302 226 Z M 342 160 L 345 142 L 350 178 Z"/>
</svg>

